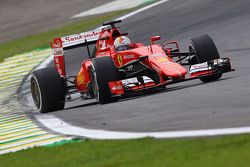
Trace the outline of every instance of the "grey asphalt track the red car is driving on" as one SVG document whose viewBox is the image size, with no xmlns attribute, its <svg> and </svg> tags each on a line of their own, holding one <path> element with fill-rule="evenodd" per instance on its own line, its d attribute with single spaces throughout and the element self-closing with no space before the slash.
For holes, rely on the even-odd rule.
<svg viewBox="0 0 250 167">
<path fill-rule="evenodd" d="M 248 0 L 170 0 L 126 19 L 122 31 L 133 41 L 147 44 L 151 35 L 161 35 L 162 41 L 180 41 L 183 51 L 190 38 L 209 34 L 236 71 L 216 82 L 188 81 L 111 104 L 67 102 L 64 110 L 50 114 L 78 127 L 130 132 L 250 126 L 249 18 Z M 67 58 L 72 74 L 83 56 L 77 53 Z"/>
</svg>

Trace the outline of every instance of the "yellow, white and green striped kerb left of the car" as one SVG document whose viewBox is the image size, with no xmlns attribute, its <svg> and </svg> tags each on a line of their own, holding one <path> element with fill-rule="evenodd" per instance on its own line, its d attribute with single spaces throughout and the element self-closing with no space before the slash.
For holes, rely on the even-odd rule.
<svg viewBox="0 0 250 167">
<path fill-rule="evenodd" d="M 37 50 L 0 63 L 0 154 L 70 139 L 40 129 L 16 101 L 15 91 L 23 77 L 50 53 L 51 49 Z"/>
</svg>

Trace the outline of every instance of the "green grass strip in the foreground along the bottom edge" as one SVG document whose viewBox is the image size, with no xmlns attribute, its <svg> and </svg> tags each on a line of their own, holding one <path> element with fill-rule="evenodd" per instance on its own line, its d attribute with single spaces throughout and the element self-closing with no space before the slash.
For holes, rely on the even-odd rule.
<svg viewBox="0 0 250 167">
<path fill-rule="evenodd" d="M 249 167 L 250 135 L 198 139 L 87 140 L 0 156 L 8 167 Z"/>
</svg>

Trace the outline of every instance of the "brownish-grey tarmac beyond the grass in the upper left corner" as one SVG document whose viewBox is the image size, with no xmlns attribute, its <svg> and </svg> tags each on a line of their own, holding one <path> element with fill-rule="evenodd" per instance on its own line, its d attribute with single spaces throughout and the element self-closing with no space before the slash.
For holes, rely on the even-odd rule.
<svg viewBox="0 0 250 167">
<path fill-rule="evenodd" d="M 111 0 L 1 0 L 0 43 L 63 26 L 70 17 Z"/>
</svg>

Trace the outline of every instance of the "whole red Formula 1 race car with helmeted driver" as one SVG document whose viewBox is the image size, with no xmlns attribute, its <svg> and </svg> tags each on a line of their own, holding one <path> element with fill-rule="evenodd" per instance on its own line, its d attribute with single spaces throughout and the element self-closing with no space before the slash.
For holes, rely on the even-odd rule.
<svg viewBox="0 0 250 167">
<path fill-rule="evenodd" d="M 36 70 L 31 77 L 32 97 L 39 112 L 63 109 L 73 93 L 104 104 L 177 82 L 215 81 L 222 73 L 232 71 L 230 60 L 220 58 L 208 35 L 192 38 L 189 51 L 180 52 L 176 41 L 155 44 L 160 36 L 152 36 L 149 46 L 131 43 L 127 34 L 115 27 L 119 22 L 106 22 L 94 31 L 55 38 L 51 42 L 56 68 Z M 91 44 L 95 45 L 92 54 Z M 81 60 L 76 76 L 68 76 L 64 51 L 76 47 L 86 47 L 89 56 Z"/>
</svg>

